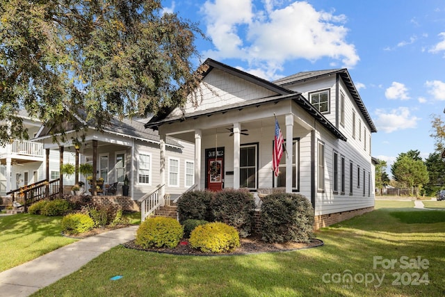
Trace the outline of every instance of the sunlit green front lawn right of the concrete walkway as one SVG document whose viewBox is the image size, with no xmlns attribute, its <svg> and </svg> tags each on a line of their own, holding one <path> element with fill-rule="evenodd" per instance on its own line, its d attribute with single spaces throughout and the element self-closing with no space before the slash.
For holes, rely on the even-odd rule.
<svg viewBox="0 0 445 297">
<path fill-rule="evenodd" d="M 197 257 L 118 246 L 33 296 L 444 296 L 442 215 L 375 208 L 319 230 L 325 245 L 307 250 Z"/>
</svg>

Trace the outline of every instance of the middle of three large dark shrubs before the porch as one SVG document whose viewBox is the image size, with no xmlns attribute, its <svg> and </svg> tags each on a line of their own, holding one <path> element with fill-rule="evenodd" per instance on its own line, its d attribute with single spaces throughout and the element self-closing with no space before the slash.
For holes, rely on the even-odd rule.
<svg viewBox="0 0 445 297">
<path fill-rule="evenodd" d="M 235 227 L 241 237 L 250 235 L 255 200 L 249 191 L 233 189 L 220 191 L 211 200 L 210 207 L 216 221 Z"/>
</svg>

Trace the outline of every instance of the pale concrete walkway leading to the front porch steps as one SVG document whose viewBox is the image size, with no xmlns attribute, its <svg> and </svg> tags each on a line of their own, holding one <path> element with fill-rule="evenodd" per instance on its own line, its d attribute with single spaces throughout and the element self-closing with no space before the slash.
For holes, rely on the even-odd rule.
<svg viewBox="0 0 445 297">
<path fill-rule="evenodd" d="M 0 273 L 0 296 L 22 297 L 79 270 L 114 246 L 135 238 L 139 226 L 111 230 L 81 239 L 63 248 Z"/>
</svg>

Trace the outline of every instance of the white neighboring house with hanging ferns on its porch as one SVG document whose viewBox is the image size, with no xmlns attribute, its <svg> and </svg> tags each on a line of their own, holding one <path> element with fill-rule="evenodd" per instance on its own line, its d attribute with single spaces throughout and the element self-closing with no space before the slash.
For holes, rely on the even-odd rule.
<svg viewBox="0 0 445 297">
<path fill-rule="evenodd" d="M 122 119 L 113 118 L 111 125 L 103 131 L 97 130 L 82 119 L 72 124 L 72 127 L 81 125 L 80 132 L 66 131 L 67 141 L 65 143 L 54 143 L 50 135 L 51 125 L 42 126 L 34 141 L 43 144 L 44 150 L 59 153 L 60 147 L 63 152 L 72 154 L 72 158 L 63 163 L 73 163 L 76 147 L 72 138 L 81 138 L 79 133 L 85 133 L 85 138 L 79 147 L 79 163 L 93 163 L 93 156 L 97 160 L 97 179 L 103 178 L 104 184 L 118 182 L 118 195 L 122 195 L 124 177 L 129 179 L 129 197 L 138 201 L 145 194 L 152 191 L 161 182 L 159 135 L 156 131 L 145 129 L 144 122 L 147 119 Z M 176 198 L 187 188 L 193 186 L 194 182 L 194 148 L 193 143 L 177 141 L 168 138 L 165 141 L 165 156 L 168 159 L 166 166 L 168 172 L 168 184 L 165 185 L 165 193 L 171 199 Z M 65 156 L 65 155 L 64 155 Z M 60 167 L 60 166 L 59 166 Z M 79 180 L 86 182 L 85 177 Z M 64 178 L 65 184 L 65 178 Z M 71 183 L 73 185 L 74 182 Z M 88 183 L 86 183 L 88 184 Z M 87 186 L 87 189 L 89 186 Z"/>
</svg>

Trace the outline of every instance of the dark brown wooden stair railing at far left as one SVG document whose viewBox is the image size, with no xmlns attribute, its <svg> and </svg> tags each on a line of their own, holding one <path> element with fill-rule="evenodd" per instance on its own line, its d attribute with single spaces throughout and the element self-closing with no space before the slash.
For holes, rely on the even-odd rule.
<svg viewBox="0 0 445 297">
<path fill-rule="evenodd" d="M 29 205 L 38 202 L 44 198 L 54 198 L 59 194 L 60 179 L 51 180 L 44 179 L 34 184 L 22 186 L 17 190 L 9 191 L 6 195 L 12 195 L 13 202 L 17 199 L 23 199 L 24 211 L 28 211 Z"/>
</svg>

